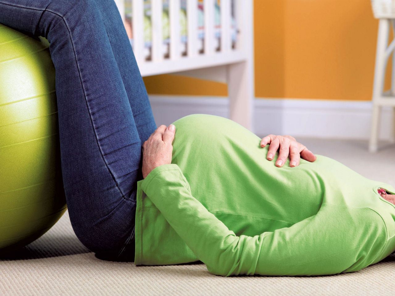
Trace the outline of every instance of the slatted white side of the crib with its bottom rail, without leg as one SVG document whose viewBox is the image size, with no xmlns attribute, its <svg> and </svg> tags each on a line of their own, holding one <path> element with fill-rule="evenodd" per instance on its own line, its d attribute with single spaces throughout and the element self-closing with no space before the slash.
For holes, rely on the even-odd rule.
<svg viewBox="0 0 395 296">
<path fill-rule="evenodd" d="M 244 28 L 245 22 L 250 18 L 250 0 L 115 2 L 129 32 L 142 76 L 236 63 L 245 60 L 250 54 L 243 47 L 243 39 L 251 39 L 252 34 Z M 126 11 L 130 7 L 132 17 Z M 186 25 L 183 26 L 186 36 L 181 35 L 182 12 L 186 15 Z M 163 17 L 166 14 L 168 18 Z M 164 23 L 167 20 L 169 24 Z M 167 26 L 169 38 L 165 41 L 164 37 L 167 36 L 163 32 Z M 147 35 L 150 35 L 148 41 Z"/>
</svg>

